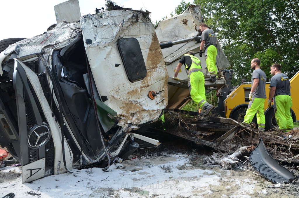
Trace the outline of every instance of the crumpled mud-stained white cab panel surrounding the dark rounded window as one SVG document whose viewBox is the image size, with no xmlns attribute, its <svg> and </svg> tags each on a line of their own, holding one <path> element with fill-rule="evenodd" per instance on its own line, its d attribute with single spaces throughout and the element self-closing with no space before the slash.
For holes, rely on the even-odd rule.
<svg viewBox="0 0 299 198">
<path fill-rule="evenodd" d="M 91 71 L 101 96 L 107 96 L 106 105 L 115 110 L 119 125 L 139 125 L 158 119 L 167 105 L 167 71 L 161 48 L 152 23 L 142 13 L 130 10 L 113 10 L 89 14 L 81 18 L 83 41 Z M 119 38 L 138 40 L 147 75 L 131 83 L 118 51 Z M 90 39 L 91 44 L 86 40 Z M 122 64 L 115 67 L 115 64 Z M 149 91 L 160 92 L 154 100 Z"/>
</svg>

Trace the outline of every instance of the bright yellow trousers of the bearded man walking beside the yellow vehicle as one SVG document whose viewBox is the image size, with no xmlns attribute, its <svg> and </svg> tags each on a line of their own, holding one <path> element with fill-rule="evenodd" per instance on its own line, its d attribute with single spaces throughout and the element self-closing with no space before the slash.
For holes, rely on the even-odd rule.
<svg viewBox="0 0 299 198">
<path fill-rule="evenodd" d="M 244 122 L 250 124 L 254 115 L 257 114 L 257 125 L 259 128 L 265 128 L 266 119 L 264 114 L 264 103 L 266 98 L 252 98 L 249 102 Z"/>
</svg>

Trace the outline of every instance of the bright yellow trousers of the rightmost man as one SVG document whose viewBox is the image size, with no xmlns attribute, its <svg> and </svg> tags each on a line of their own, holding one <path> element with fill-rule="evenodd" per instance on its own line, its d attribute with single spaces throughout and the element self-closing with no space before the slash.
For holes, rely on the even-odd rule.
<svg viewBox="0 0 299 198">
<path fill-rule="evenodd" d="M 292 98 L 289 95 L 277 95 L 274 97 L 274 112 L 278 127 L 282 131 L 294 128 L 291 116 Z"/>
</svg>

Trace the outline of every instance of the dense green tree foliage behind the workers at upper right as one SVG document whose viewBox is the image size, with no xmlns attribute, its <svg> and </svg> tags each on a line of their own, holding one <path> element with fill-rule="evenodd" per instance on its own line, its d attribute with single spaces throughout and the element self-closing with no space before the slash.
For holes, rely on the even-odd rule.
<svg viewBox="0 0 299 198">
<path fill-rule="evenodd" d="M 237 81 L 251 79 L 250 61 L 255 57 L 268 78 L 273 63 L 280 63 L 289 77 L 298 71 L 299 0 L 194 0 L 193 4 L 201 5 L 203 22 L 215 31 Z"/>
</svg>

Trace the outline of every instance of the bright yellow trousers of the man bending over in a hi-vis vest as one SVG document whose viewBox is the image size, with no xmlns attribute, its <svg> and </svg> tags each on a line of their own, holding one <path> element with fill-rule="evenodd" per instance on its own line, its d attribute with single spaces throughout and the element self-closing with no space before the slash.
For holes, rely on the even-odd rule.
<svg viewBox="0 0 299 198">
<path fill-rule="evenodd" d="M 199 107 L 206 102 L 205 98 L 205 77 L 201 71 L 194 71 L 189 74 L 188 82 L 192 100 Z"/>
</svg>

